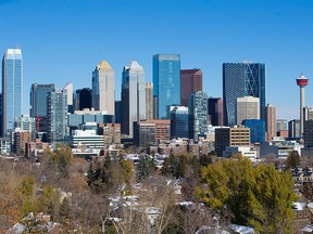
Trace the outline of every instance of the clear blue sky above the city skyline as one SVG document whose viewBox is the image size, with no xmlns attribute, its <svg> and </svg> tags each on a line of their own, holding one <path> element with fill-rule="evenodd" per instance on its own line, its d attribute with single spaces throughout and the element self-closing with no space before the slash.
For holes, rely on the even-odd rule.
<svg viewBox="0 0 313 234">
<path fill-rule="evenodd" d="M 107 60 L 120 100 L 123 66 L 136 60 L 152 81 L 152 55 L 178 53 L 181 68 L 201 68 L 203 89 L 222 96 L 222 64 L 266 64 L 267 103 L 299 118 L 303 73 L 313 105 L 312 0 L 0 0 L 0 52 L 22 48 L 24 113 L 34 82 L 91 87 Z"/>
</svg>

